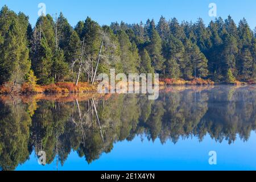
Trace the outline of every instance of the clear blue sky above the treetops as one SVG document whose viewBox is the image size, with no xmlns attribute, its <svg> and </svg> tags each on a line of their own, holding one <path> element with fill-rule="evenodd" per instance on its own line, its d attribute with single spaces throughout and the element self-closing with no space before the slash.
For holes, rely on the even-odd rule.
<svg viewBox="0 0 256 182">
<path fill-rule="evenodd" d="M 46 4 L 46 13 L 55 15 L 63 12 L 69 23 L 75 26 L 79 20 L 90 16 L 100 24 L 111 22 L 139 23 L 147 18 L 154 18 L 158 22 L 161 15 L 166 19 L 176 17 L 181 20 L 196 21 L 201 17 L 208 24 L 209 3 L 216 3 L 217 16 L 226 18 L 229 14 L 236 23 L 245 17 L 250 27 L 256 26 L 255 0 L 0 0 L 0 6 L 9 6 L 15 12 L 22 11 L 30 16 L 30 22 L 35 24 L 38 18 L 38 4 Z"/>
</svg>

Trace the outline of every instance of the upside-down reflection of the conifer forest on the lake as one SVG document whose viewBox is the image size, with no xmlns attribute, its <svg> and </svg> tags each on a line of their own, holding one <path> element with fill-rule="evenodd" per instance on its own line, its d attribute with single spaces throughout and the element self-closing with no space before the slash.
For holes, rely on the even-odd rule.
<svg viewBox="0 0 256 182">
<path fill-rule="evenodd" d="M 20 98 L 0 101 L 0 167 L 13 170 L 33 151 L 46 151 L 47 163 L 64 164 L 75 150 L 88 163 L 110 152 L 115 142 L 203 137 L 218 142 L 250 137 L 256 124 L 254 87 L 166 89 L 156 101 L 143 95 L 113 95 L 59 102 Z"/>
</svg>

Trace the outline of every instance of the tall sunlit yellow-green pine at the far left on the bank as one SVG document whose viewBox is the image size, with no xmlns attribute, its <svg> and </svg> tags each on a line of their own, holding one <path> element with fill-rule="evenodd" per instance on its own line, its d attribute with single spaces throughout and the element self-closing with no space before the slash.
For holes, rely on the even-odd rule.
<svg viewBox="0 0 256 182">
<path fill-rule="evenodd" d="M 3 6 L 0 11 L 0 84 L 22 84 L 30 71 L 27 27 L 27 16 L 17 15 Z"/>
</svg>

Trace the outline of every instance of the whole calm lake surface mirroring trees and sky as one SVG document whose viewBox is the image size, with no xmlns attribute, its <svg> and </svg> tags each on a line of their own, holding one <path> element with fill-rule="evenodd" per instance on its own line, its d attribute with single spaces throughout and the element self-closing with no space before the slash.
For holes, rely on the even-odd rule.
<svg viewBox="0 0 256 182">
<path fill-rule="evenodd" d="M 255 170 L 255 129 L 254 85 L 1 96 L 0 169 Z"/>
</svg>

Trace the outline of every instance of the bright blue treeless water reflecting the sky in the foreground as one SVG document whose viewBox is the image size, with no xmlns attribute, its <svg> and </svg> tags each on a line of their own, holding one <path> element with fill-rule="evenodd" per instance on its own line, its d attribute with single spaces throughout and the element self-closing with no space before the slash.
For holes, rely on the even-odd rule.
<svg viewBox="0 0 256 182">
<path fill-rule="evenodd" d="M 239 138 L 239 137 L 238 137 Z M 217 164 L 210 165 L 209 151 L 217 152 Z M 176 144 L 168 141 L 161 144 L 159 139 L 153 143 L 141 137 L 133 141 L 117 142 L 112 152 L 102 154 L 101 158 L 92 164 L 79 158 L 77 152 L 69 154 L 64 166 L 56 160 L 47 166 L 38 164 L 35 155 L 30 160 L 19 165 L 16 170 L 255 170 L 256 169 L 256 134 L 253 131 L 247 142 L 237 139 L 228 144 L 215 142 L 207 135 L 203 142 L 197 138 L 180 139 Z"/>
</svg>

